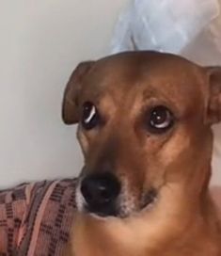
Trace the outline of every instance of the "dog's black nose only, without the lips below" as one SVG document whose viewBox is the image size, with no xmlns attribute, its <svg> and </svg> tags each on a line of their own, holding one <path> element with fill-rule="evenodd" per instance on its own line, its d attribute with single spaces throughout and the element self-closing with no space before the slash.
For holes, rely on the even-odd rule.
<svg viewBox="0 0 221 256">
<path fill-rule="evenodd" d="M 88 205 L 109 204 L 117 199 L 120 185 L 111 173 L 87 176 L 81 184 L 81 192 Z"/>
</svg>

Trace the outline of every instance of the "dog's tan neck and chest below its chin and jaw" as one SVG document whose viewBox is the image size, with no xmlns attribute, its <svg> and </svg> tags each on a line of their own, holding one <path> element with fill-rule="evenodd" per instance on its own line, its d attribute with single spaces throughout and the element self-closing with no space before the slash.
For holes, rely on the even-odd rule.
<svg viewBox="0 0 221 256">
<path fill-rule="evenodd" d="M 211 221 L 217 218 L 211 217 L 215 210 L 209 190 L 203 192 L 203 197 L 197 197 L 199 200 L 193 198 L 190 202 L 180 186 L 162 189 L 162 199 L 137 216 L 103 220 L 77 214 L 76 256 L 173 256 L 178 251 L 180 256 L 220 256 L 215 244 L 221 235 L 217 223 Z"/>
</svg>

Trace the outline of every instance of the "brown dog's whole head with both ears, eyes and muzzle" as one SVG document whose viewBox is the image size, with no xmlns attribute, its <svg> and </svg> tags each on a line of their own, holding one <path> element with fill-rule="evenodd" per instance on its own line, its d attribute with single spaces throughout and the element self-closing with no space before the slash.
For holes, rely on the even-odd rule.
<svg viewBox="0 0 221 256">
<path fill-rule="evenodd" d="M 211 124 L 221 119 L 221 71 L 153 52 L 80 64 L 63 119 L 79 123 L 85 155 L 80 211 L 126 217 L 150 211 L 172 184 L 198 198 L 210 178 Z"/>
</svg>

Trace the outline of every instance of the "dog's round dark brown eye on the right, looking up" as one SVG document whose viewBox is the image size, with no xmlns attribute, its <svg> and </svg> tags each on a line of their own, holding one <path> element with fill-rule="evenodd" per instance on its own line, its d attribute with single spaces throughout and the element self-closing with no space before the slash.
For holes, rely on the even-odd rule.
<svg viewBox="0 0 221 256">
<path fill-rule="evenodd" d="M 152 133 L 164 133 L 174 123 L 174 116 L 164 105 L 159 105 L 150 110 L 149 128 Z"/>
</svg>

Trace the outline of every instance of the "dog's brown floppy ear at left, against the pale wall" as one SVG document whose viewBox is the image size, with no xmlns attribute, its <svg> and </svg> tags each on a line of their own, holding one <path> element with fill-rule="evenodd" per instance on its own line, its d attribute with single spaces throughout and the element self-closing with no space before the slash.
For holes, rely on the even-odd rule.
<svg viewBox="0 0 221 256">
<path fill-rule="evenodd" d="M 94 61 L 85 61 L 75 68 L 65 88 L 62 105 L 62 119 L 66 124 L 73 124 L 79 121 L 78 97 L 82 88 L 82 80 L 89 72 Z"/>
</svg>

